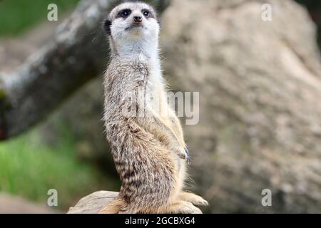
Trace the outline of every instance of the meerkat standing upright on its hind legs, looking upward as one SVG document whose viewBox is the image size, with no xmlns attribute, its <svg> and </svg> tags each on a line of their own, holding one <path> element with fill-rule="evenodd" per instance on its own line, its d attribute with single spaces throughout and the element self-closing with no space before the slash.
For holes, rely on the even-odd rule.
<svg viewBox="0 0 321 228">
<path fill-rule="evenodd" d="M 202 213 L 195 205 L 208 202 L 183 191 L 190 157 L 166 99 L 156 11 L 142 2 L 126 2 L 111 11 L 103 28 L 111 47 L 103 120 L 121 190 L 99 213 Z"/>
</svg>

